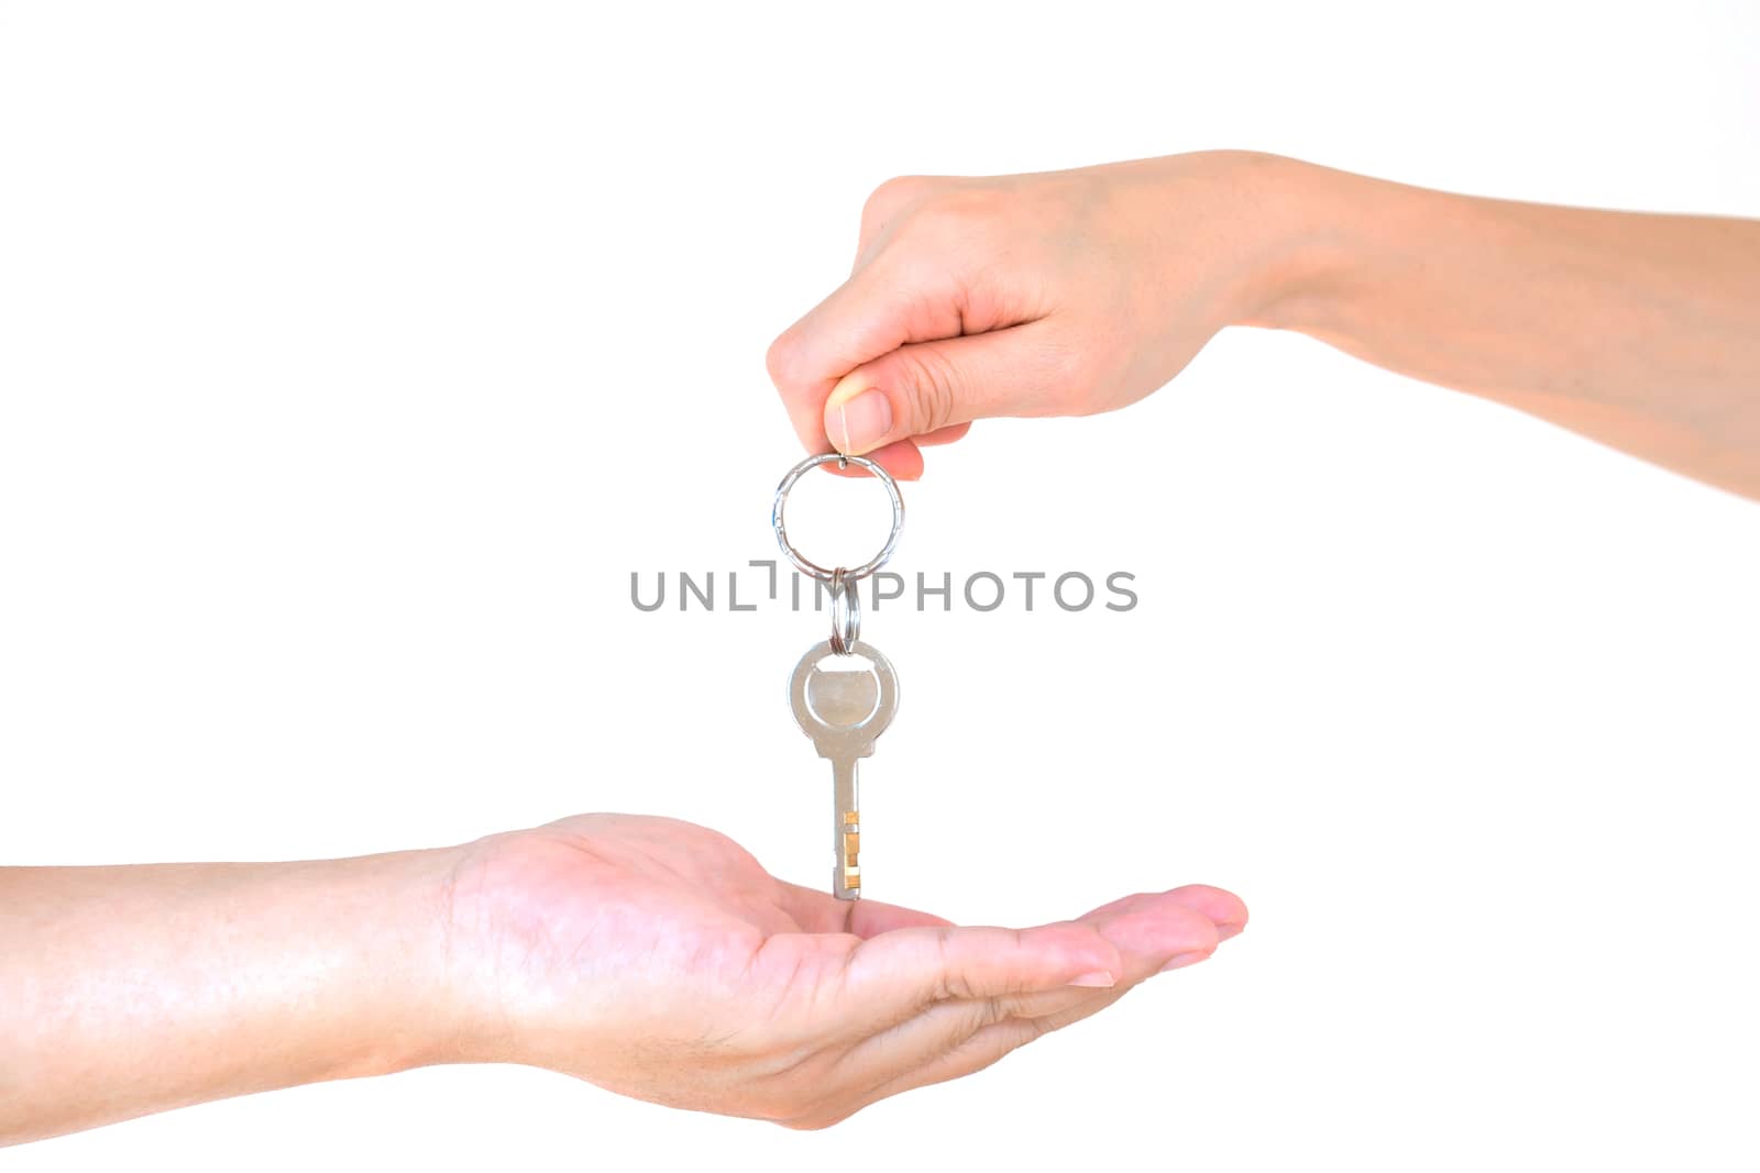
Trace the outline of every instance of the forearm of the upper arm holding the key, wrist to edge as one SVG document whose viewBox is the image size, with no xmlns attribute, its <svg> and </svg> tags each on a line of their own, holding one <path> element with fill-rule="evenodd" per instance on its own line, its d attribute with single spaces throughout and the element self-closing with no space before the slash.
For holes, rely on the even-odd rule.
<svg viewBox="0 0 1760 1173">
<path fill-rule="evenodd" d="M 1760 222 L 1283 176 L 1299 260 L 1253 324 L 1760 498 Z"/>
</svg>

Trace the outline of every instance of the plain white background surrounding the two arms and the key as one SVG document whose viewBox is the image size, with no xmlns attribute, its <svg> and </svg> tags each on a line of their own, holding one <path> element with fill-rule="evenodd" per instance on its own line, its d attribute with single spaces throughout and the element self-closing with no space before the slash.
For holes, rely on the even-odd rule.
<svg viewBox="0 0 1760 1173">
<path fill-rule="evenodd" d="M 628 575 L 774 554 L 764 348 L 869 188 L 1241 146 L 1751 216 L 1756 69 L 1737 0 L 0 4 L 0 858 L 623 809 L 817 885 L 824 621 Z M 906 575 L 1142 601 L 868 617 L 869 893 L 1209 881 L 1214 960 L 820 1134 L 429 1069 L 0 1168 L 1755 1168 L 1760 506 L 1248 331 L 906 501 Z"/>
</svg>

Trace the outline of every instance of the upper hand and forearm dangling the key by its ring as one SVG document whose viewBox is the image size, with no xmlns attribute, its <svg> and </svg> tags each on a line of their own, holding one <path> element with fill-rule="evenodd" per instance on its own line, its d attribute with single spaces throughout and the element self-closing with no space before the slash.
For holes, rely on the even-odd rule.
<svg viewBox="0 0 1760 1173">
<path fill-rule="evenodd" d="M 808 448 L 922 473 L 998 415 L 1091 415 L 1218 331 L 1301 331 L 1760 498 L 1760 222 L 1471 199 L 1243 151 L 901 178 L 769 350 Z"/>
</svg>

